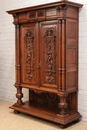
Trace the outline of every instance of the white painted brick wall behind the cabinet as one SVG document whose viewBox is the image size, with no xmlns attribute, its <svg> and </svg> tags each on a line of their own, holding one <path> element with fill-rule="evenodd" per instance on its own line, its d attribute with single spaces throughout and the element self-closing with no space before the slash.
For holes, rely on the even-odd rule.
<svg viewBox="0 0 87 130">
<path fill-rule="evenodd" d="M 0 0 L 0 100 L 15 102 L 15 30 L 7 10 L 58 0 Z M 78 109 L 87 122 L 87 0 L 72 0 L 84 4 L 79 13 L 79 102 Z M 24 98 L 28 98 L 28 91 Z"/>
</svg>

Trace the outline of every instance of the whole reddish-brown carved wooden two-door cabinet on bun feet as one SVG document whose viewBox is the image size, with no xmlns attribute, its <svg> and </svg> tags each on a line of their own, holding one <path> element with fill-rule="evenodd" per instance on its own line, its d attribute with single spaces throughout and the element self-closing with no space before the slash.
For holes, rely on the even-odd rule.
<svg viewBox="0 0 87 130">
<path fill-rule="evenodd" d="M 14 17 L 17 103 L 10 108 L 62 125 L 78 120 L 78 11 L 59 1 L 7 11 Z M 29 89 L 23 102 L 22 88 Z"/>
</svg>

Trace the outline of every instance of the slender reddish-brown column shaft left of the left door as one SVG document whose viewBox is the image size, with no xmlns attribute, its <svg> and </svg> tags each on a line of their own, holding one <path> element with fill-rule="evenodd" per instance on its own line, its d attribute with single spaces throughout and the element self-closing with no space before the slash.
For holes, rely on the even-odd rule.
<svg viewBox="0 0 87 130">
<path fill-rule="evenodd" d="M 20 45 L 19 45 L 19 25 L 15 26 L 15 46 L 16 46 L 16 83 L 20 84 Z"/>
</svg>

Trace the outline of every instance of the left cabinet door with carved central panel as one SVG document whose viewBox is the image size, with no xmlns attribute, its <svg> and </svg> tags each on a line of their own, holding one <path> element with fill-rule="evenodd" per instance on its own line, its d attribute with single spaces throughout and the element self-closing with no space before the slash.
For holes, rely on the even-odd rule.
<svg viewBox="0 0 87 130">
<path fill-rule="evenodd" d="M 38 25 L 24 24 L 20 27 L 21 80 L 22 83 L 38 84 Z"/>
</svg>

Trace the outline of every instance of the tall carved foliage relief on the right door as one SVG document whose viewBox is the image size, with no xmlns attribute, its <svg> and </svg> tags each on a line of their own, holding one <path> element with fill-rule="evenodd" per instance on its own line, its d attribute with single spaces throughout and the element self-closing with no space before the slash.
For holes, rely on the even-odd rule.
<svg viewBox="0 0 87 130">
<path fill-rule="evenodd" d="M 45 41 L 45 81 L 55 83 L 56 78 L 56 36 L 55 27 L 47 28 Z"/>
</svg>

